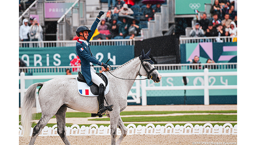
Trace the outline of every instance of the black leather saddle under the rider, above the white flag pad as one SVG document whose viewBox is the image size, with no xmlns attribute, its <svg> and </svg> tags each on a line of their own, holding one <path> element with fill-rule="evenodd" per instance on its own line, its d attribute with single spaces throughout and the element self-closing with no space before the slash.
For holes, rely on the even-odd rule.
<svg viewBox="0 0 256 145">
<path fill-rule="evenodd" d="M 105 82 L 106 86 L 108 84 L 108 80 L 107 80 L 107 77 L 105 75 L 103 75 L 102 73 L 96 73 L 97 75 L 99 75 L 99 77 Z M 84 82 L 87 84 L 85 78 L 83 77 L 82 73 L 81 72 L 78 72 L 78 77 L 77 77 L 77 80 L 79 82 Z M 88 84 L 87 84 L 88 85 Z M 93 95 L 99 95 L 99 86 L 96 85 L 96 84 L 92 84 L 90 86 L 90 89 L 91 89 L 91 92 Z M 106 90 L 106 87 L 105 87 L 105 90 Z"/>
</svg>

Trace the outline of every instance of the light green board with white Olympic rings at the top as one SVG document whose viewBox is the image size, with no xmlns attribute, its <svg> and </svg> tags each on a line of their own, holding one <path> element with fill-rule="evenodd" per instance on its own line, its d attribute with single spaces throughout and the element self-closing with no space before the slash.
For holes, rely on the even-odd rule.
<svg viewBox="0 0 256 145">
<path fill-rule="evenodd" d="M 195 10 L 204 12 L 205 3 L 211 3 L 211 0 L 175 0 L 175 14 L 195 14 Z"/>
</svg>

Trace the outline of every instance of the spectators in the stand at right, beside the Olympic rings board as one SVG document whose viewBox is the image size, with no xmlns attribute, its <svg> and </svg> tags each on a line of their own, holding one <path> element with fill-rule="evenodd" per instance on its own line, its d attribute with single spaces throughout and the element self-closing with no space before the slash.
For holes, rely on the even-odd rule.
<svg viewBox="0 0 256 145">
<path fill-rule="evenodd" d="M 206 13 L 199 18 L 196 15 L 196 23 L 190 31 L 190 37 L 215 37 L 215 36 L 237 36 L 237 11 L 235 1 L 214 0 L 211 6 L 211 18 Z"/>
</svg>

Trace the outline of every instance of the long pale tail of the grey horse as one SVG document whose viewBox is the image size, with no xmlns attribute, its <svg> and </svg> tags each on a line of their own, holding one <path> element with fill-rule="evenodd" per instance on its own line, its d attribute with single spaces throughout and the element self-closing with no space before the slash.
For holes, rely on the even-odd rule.
<svg viewBox="0 0 256 145">
<path fill-rule="evenodd" d="M 31 120 L 35 118 L 35 114 L 32 114 L 32 107 L 36 100 L 36 87 L 43 86 L 43 83 L 35 83 L 31 85 L 22 101 L 22 113 L 21 113 L 21 125 L 23 127 L 23 137 L 28 137 L 31 130 Z"/>
</svg>

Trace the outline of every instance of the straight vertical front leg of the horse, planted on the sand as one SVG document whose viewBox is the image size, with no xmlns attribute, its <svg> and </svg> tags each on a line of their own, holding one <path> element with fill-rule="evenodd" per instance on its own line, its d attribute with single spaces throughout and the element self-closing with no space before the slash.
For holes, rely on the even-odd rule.
<svg viewBox="0 0 256 145">
<path fill-rule="evenodd" d="M 117 136 L 117 125 L 118 125 L 118 119 L 119 119 L 119 111 L 117 109 L 113 109 L 109 113 L 110 116 L 110 134 L 111 134 L 111 145 L 116 144 L 116 136 Z"/>
</svg>

